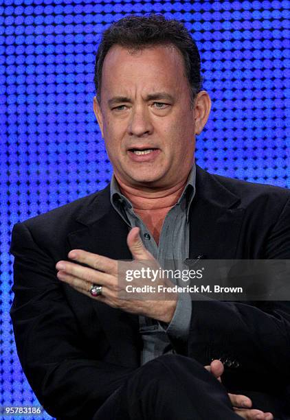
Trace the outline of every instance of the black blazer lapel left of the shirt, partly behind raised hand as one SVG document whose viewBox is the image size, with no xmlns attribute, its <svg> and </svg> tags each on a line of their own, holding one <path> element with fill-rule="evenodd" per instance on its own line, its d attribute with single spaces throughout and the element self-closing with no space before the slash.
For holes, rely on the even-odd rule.
<svg viewBox="0 0 290 420">
<path fill-rule="evenodd" d="M 111 206 L 109 186 L 96 195 L 96 200 L 82 211 L 77 221 L 83 226 L 67 236 L 69 249 L 84 249 L 113 259 L 132 259 L 126 244 L 129 228 Z M 115 351 L 118 363 L 138 366 L 138 317 L 93 299 L 90 299 L 90 303 Z"/>
</svg>

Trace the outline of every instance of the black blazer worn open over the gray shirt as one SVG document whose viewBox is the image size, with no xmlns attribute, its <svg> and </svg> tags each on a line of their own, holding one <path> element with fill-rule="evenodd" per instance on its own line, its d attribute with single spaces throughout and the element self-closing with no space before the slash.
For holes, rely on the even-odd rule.
<svg viewBox="0 0 290 420">
<path fill-rule="evenodd" d="M 82 248 L 131 259 L 128 226 L 96 194 L 14 226 L 12 322 L 23 371 L 45 410 L 59 419 L 91 419 L 140 365 L 137 316 L 93 301 L 58 281 L 55 264 Z M 190 258 L 289 259 L 290 191 L 208 174 L 197 167 L 190 209 Z M 287 412 L 290 303 L 193 301 L 186 346 L 201 364 L 225 363 L 227 390 L 257 408 Z M 288 396 L 288 397 L 287 397 Z M 286 417 L 283 417 L 286 418 Z"/>
</svg>

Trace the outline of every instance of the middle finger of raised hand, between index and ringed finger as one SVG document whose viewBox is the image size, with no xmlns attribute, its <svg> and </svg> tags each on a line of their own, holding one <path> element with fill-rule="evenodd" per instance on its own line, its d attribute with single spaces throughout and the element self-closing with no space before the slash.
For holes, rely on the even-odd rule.
<svg viewBox="0 0 290 420">
<path fill-rule="evenodd" d="M 106 272 L 93 270 L 92 268 L 83 267 L 79 264 L 74 264 L 69 261 L 58 261 L 56 264 L 56 269 L 66 272 L 73 277 L 78 277 L 78 279 L 87 281 L 89 283 L 97 283 L 100 285 L 108 285 L 112 287 L 115 281 L 115 277 L 107 274 Z"/>
</svg>

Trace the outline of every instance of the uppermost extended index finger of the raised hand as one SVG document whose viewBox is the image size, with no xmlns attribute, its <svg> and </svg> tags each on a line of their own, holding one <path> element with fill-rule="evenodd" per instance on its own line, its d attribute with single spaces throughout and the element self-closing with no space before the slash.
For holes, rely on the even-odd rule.
<svg viewBox="0 0 290 420">
<path fill-rule="evenodd" d="M 69 251 L 67 256 L 69 259 L 86 264 L 94 270 L 100 270 L 109 274 L 116 274 L 118 271 L 118 261 L 103 255 L 88 253 L 82 249 L 73 249 Z"/>
</svg>

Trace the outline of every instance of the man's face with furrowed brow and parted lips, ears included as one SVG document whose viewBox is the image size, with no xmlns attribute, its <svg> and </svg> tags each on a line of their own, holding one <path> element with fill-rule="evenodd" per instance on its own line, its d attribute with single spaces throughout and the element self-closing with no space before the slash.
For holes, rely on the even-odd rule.
<svg viewBox="0 0 290 420">
<path fill-rule="evenodd" d="M 171 187 L 187 176 L 195 135 L 208 118 L 207 98 L 203 91 L 190 106 L 183 58 L 175 47 L 111 47 L 94 110 L 115 176 L 145 189 Z"/>
</svg>

